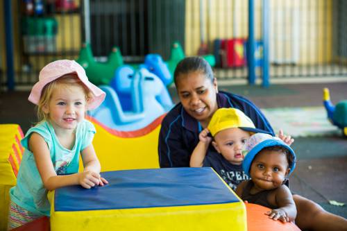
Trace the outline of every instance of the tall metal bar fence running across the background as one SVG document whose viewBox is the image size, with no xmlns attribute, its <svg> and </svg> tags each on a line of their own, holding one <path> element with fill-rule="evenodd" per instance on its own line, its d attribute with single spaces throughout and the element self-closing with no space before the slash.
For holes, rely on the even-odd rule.
<svg viewBox="0 0 347 231">
<path fill-rule="evenodd" d="M 268 1 L 269 10 L 262 3 Z M 28 6 L 28 3 L 33 4 Z M 117 46 L 125 62 L 149 53 L 168 60 L 174 42 L 185 55 L 211 54 L 219 79 L 244 79 L 248 3 L 242 0 L 13 1 L 15 85 L 33 85 L 48 62 L 76 59 L 84 42 L 105 61 Z M 271 78 L 346 76 L 347 2 L 254 0 L 255 66 L 262 72 L 262 14 L 269 14 Z M 4 52 L 3 52 L 4 53 Z M 3 55 L 4 56 L 4 55 Z M 3 57 L 3 59 L 5 59 Z M 6 86 L 6 68 L 1 67 Z"/>
</svg>

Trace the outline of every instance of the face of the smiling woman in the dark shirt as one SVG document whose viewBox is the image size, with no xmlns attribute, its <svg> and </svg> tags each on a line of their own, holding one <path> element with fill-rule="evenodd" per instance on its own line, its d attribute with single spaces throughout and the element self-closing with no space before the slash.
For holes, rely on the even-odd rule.
<svg viewBox="0 0 347 231">
<path fill-rule="evenodd" d="M 176 87 L 183 108 L 205 128 L 218 109 L 217 80 L 211 83 L 202 71 L 194 71 L 180 74 Z"/>
</svg>

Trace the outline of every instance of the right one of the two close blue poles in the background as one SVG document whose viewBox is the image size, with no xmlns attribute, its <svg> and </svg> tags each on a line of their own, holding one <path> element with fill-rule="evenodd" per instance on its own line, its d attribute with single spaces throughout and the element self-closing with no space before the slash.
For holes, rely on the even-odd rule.
<svg viewBox="0 0 347 231">
<path fill-rule="evenodd" d="M 262 86 L 269 87 L 269 35 L 270 35 L 269 0 L 262 0 Z"/>
</svg>

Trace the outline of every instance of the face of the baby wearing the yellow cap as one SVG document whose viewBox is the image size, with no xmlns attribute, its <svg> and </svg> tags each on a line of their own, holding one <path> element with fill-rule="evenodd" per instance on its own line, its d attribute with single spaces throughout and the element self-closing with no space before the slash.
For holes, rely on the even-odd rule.
<svg viewBox="0 0 347 231">
<path fill-rule="evenodd" d="M 242 164 L 244 143 L 250 137 L 249 132 L 239 128 L 227 128 L 214 136 L 214 148 L 231 164 Z"/>
</svg>

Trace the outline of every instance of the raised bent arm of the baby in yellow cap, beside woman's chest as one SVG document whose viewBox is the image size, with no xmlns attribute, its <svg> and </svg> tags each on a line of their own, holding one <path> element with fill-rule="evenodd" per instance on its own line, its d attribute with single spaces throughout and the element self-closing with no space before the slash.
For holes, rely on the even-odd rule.
<svg viewBox="0 0 347 231">
<path fill-rule="evenodd" d="M 203 166 L 203 160 L 205 159 L 206 152 L 208 151 L 208 146 L 210 145 L 212 138 L 208 137 L 210 131 L 205 128 L 200 132 L 198 138 L 200 141 L 194 148 L 192 155 L 190 156 L 189 166 L 191 167 L 201 167 Z"/>
</svg>

